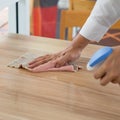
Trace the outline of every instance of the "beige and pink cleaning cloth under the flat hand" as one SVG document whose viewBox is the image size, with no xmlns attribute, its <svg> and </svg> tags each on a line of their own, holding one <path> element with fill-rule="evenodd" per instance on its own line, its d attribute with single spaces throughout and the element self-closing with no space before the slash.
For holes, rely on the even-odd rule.
<svg viewBox="0 0 120 120">
<path fill-rule="evenodd" d="M 36 55 L 33 53 L 26 53 L 19 58 L 13 60 L 11 63 L 8 64 L 8 67 L 12 68 L 24 68 L 32 72 L 43 72 L 43 71 L 71 71 L 75 72 L 81 69 L 81 66 L 76 64 L 62 66 L 60 68 L 55 68 L 53 62 L 48 62 L 39 66 L 36 70 L 30 69 L 28 63 L 33 61 L 35 58 L 39 57 L 40 55 Z"/>
</svg>

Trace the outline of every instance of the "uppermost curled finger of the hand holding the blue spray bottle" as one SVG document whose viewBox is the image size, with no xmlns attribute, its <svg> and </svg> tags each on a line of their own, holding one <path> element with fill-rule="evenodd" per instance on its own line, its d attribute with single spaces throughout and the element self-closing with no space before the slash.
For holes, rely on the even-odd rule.
<svg viewBox="0 0 120 120">
<path fill-rule="evenodd" d="M 106 69 L 104 66 L 101 66 L 95 72 L 94 77 L 95 77 L 95 79 L 100 79 L 100 78 L 103 78 L 105 76 L 105 74 L 106 74 Z"/>
</svg>

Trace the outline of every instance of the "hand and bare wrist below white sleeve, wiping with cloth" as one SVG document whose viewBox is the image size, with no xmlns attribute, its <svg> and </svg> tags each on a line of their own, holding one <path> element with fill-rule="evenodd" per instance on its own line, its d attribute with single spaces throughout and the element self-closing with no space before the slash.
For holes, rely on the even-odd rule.
<svg viewBox="0 0 120 120">
<path fill-rule="evenodd" d="M 29 68 L 36 69 L 41 64 L 53 61 L 54 67 L 61 67 L 80 57 L 82 49 L 89 43 L 87 39 L 78 34 L 71 44 L 63 51 L 41 56 L 29 63 Z"/>
</svg>

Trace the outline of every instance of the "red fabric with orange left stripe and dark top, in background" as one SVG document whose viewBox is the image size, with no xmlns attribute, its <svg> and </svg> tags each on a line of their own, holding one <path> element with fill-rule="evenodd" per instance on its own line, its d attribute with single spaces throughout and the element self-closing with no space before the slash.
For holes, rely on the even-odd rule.
<svg viewBox="0 0 120 120">
<path fill-rule="evenodd" d="M 31 31 L 33 35 L 50 38 L 56 37 L 57 1 L 34 1 L 31 19 Z"/>
</svg>

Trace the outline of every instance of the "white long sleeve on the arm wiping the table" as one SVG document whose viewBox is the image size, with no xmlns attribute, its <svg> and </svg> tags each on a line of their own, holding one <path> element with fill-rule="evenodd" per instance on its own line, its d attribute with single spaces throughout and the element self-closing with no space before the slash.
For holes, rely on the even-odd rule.
<svg viewBox="0 0 120 120">
<path fill-rule="evenodd" d="M 120 19 L 120 0 L 97 0 L 80 34 L 99 42 L 108 29 Z"/>
</svg>

